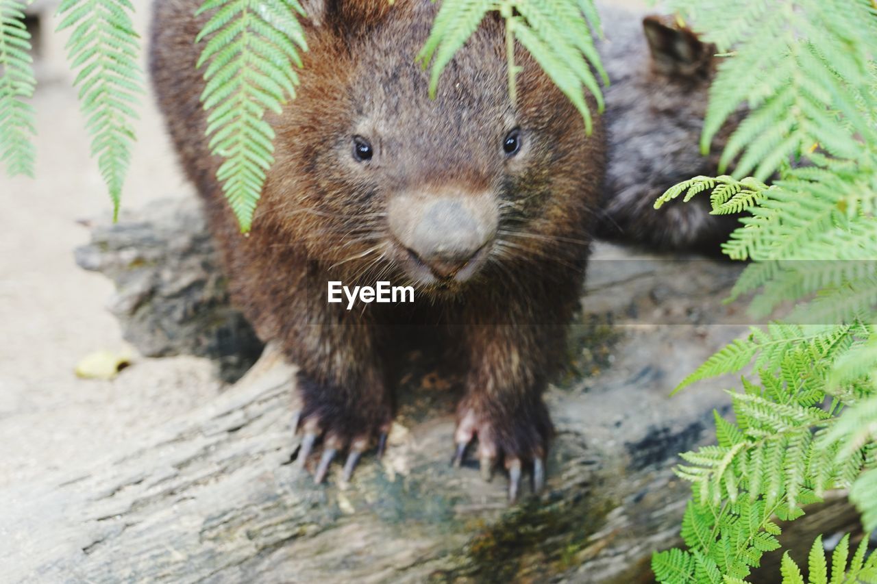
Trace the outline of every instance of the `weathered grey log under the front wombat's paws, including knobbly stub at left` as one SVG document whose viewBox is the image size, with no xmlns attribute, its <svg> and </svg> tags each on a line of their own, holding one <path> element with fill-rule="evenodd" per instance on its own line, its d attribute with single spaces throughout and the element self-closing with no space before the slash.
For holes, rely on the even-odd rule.
<svg viewBox="0 0 877 584">
<path fill-rule="evenodd" d="M 200 307 L 189 321 L 210 325 L 193 324 L 183 336 L 203 346 L 205 335 L 227 332 L 205 311 L 233 311 L 193 301 L 225 297 L 210 275 L 210 245 L 179 246 L 202 241 L 200 211 L 161 207 L 96 229 L 77 258 L 116 279 L 114 305 L 131 314 L 146 305 Z M 168 218 L 169 227 L 155 227 Z M 154 261 L 169 250 L 188 259 Z M 144 260 L 149 254 L 153 261 Z M 525 488 L 509 506 L 503 474 L 485 482 L 474 461 L 449 465 L 460 383 L 417 353 L 383 459 L 365 457 L 349 484 L 333 466 L 326 484 L 315 485 L 290 464 L 299 439 L 291 429 L 295 367 L 269 345 L 213 402 L 102 464 L 0 491 L 0 580 L 651 581 L 652 551 L 679 543 L 688 499 L 688 483 L 672 472 L 676 455 L 709 439 L 713 409 L 729 408 L 721 389 L 736 383 L 669 392 L 745 330 L 741 306 L 722 303 L 738 271 L 597 246 L 567 374 L 546 395 L 558 436 L 538 497 Z M 165 285 L 184 277 L 185 289 L 168 296 Z M 132 295 L 139 302 L 125 304 Z M 116 313 L 130 332 L 131 318 Z M 134 327 L 129 338 L 154 343 L 149 331 L 165 334 L 163 326 Z M 812 534 L 857 520 L 832 505 L 821 522 L 816 515 Z"/>
</svg>

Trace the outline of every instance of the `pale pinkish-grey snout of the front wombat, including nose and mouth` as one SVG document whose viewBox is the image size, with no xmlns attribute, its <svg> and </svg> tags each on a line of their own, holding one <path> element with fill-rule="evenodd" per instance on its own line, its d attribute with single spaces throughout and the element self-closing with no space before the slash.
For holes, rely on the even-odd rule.
<svg viewBox="0 0 877 584">
<path fill-rule="evenodd" d="M 429 274 L 459 281 L 474 274 L 497 221 L 496 201 L 488 193 L 404 194 L 389 204 L 390 231 L 410 254 L 412 271 L 427 281 Z"/>
</svg>

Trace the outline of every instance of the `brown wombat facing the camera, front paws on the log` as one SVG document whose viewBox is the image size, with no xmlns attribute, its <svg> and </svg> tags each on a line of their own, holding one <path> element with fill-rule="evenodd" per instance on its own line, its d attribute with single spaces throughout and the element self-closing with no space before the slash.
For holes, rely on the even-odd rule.
<svg viewBox="0 0 877 584">
<path fill-rule="evenodd" d="M 317 481 L 336 452 L 347 452 L 345 480 L 362 452 L 377 445 L 380 454 L 398 356 L 426 334 L 452 347 L 453 364 L 465 371 L 453 460 L 459 464 L 477 436 L 482 472 L 502 462 L 512 500 L 522 470 L 538 491 L 553 434 L 542 395 L 564 354 L 592 234 L 607 217 L 599 208 L 602 122 L 586 135 L 581 115 L 520 47 L 511 102 L 501 18 L 484 19 L 431 99 L 429 72 L 414 57 L 435 3 L 314 0 L 305 3 L 310 51 L 301 85 L 282 115 L 269 118 L 276 160 L 244 237 L 215 178 L 221 160 L 204 138 L 193 39 L 206 18 L 193 16 L 198 4 L 157 0 L 153 82 L 205 202 L 234 301 L 260 338 L 279 343 L 300 367 L 297 463 L 308 462 L 319 438 Z M 639 28 L 636 19 L 625 25 Z M 622 59 L 648 61 L 645 45 L 619 48 L 628 53 Z M 663 178 L 664 188 L 672 184 Z M 610 173 L 613 180 L 620 179 Z M 623 210 L 643 205 L 630 190 L 613 189 L 626 202 L 606 220 L 624 228 Z M 414 302 L 360 295 L 366 302 L 353 310 L 346 300 L 330 302 L 333 285 L 378 281 L 410 287 Z"/>
</svg>

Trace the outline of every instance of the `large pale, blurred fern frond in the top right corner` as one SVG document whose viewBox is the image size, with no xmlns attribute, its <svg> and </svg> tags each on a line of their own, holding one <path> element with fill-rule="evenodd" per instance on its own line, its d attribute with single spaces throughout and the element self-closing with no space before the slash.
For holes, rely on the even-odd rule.
<svg viewBox="0 0 877 584">
<path fill-rule="evenodd" d="M 790 157 L 819 145 L 855 159 L 861 138 L 873 143 L 863 108 L 871 73 L 877 18 L 867 0 L 669 3 L 729 51 L 710 89 L 701 146 L 704 152 L 724 122 L 745 104 L 749 114 L 725 147 L 722 167 L 739 156 L 736 176 L 764 180 Z M 864 136 L 863 136 L 864 134 Z"/>
</svg>

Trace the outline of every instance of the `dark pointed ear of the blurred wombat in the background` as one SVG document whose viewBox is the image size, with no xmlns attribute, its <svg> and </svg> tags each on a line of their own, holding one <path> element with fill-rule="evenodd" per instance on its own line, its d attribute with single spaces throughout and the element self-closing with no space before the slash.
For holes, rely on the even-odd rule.
<svg viewBox="0 0 877 584">
<path fill-rule="evenodd" d="M 716 46 L 704 43 L 691 29 L 672 17 L 643 19 L 645 39 L 652 51 L 657 73 L 671 76 L 707 77 L 712 70 Z"/>
</svg>

